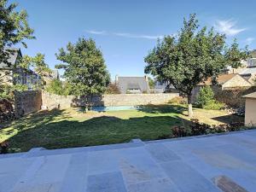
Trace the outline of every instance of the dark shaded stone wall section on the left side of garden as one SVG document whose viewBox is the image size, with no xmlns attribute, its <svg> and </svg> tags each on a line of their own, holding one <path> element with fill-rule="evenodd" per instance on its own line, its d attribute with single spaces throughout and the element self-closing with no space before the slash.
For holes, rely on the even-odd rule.
<svg viewBox="0 0 256 192">
<path fill-rule="evenodd" d="M 28 113 L 37 112 L 42 106 L 41 90 L 26 90 L 15 92 L 15 115 L 21 117 Z"/>
</svg>

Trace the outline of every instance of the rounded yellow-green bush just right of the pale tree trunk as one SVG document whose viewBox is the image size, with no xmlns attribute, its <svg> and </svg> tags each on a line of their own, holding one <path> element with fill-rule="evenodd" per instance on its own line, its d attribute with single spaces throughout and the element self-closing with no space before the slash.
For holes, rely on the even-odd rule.
<svg viewBox="0 0 256 192">
<path fill-rule="evenodd" d="M 224 108 L 224 103 L 214 99 L 214 92 L 210 86 L 205 86 L 199 91 L 197 96 L 197 106 L 204 109 L 219 110 Z"/>
</svg>

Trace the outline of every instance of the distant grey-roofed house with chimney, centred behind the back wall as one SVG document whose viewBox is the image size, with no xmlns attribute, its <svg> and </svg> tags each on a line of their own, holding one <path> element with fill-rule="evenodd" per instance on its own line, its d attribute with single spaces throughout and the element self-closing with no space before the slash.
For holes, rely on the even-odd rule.
<svg viewBox="0 0 256 192">
<path fill-rule="evenodd" d="M 119 77 L 116 76 L 115 83 L 122 94 L 125 93 L 149 93 L 148 77 Z"/>
</svg>

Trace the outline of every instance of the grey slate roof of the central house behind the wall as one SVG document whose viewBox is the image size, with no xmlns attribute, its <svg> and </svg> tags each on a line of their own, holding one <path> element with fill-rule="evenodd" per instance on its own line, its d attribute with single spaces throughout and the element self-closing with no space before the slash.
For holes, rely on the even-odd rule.
<svg viewBox="0 0 256 192">
<path fill-rule="evenodd" d="M 149 90 L 147 77 L 118 77 L 118 86 L 121 93 L 129 89 L 139 89 L 142 92 Z"/>
</svg>

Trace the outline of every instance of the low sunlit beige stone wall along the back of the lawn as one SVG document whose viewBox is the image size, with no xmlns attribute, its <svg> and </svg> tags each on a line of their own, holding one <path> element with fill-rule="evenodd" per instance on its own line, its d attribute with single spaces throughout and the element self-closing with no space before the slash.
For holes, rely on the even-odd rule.
<svg viewBox="0 0 256 192">
<path fill-rule="evenodd" d="M 136 106 L 147 104 L 163 104 L 170 101 L 178 93 L 159 93 L 159 94 L 117 94 L 102 95 L 84 98 L 76 98 L 75 96 L 56 96 L 43 92 L 42 108 L 70 108 L 73 106 L 84 106 L 86 100 L 93 106 Z"/>
</svg>

